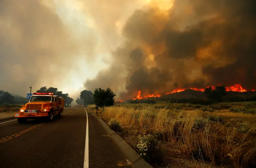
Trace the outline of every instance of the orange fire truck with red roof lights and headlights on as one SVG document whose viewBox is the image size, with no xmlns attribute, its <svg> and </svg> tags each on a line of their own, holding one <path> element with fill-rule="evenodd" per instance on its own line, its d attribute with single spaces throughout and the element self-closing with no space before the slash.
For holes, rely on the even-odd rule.
<svg viewBox="0 0 256 168">
<path fill-rule="evenodd" d="M 33 93 L 28 103 L 22 105 L 19 113 L 15 113 L 18 123 L 26 123 L 28 119 L 44 118 L 51 122 L 54 116 L 62 117 L 64 97 L 53 93 Z"/>
</svg>

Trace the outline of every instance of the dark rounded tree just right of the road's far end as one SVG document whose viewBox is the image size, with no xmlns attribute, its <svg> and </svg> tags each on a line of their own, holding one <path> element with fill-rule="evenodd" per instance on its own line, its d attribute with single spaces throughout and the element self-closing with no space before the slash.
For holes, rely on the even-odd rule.
<svg viewBox="0 0 256 168">
<path fill-rule="evenodd" d="M 115 103 L 115 93 L 110 88 L 104 89 L 95 89 L 93 97 L 95 98 L 95 105 L 99 107 L 103 106 L 112 106 Z"/>
</svg>

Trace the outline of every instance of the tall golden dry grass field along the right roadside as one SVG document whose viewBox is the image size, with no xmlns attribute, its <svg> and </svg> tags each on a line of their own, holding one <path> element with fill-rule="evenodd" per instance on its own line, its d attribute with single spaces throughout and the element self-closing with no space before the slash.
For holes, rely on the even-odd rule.
<svg viewBox="0 0 256 168">
<path fill-rule="evenodd" d="M 224 119 L 250 119 L 255 115 L 244 113 L 185 111 L 174 108 L 156 108 L 157 105 L 126 105 L 105 107 L 101 117 L 106 121 L 117 119 L 121 126 L 140 133 L 157 135 L 167 144 L 166 158 L 173 158 L 173 152 L 193 156 L 195 160 L 208 160 L 214 164 L 245 168 L 248 162 L 255 162 L 255 130 L 239 133 L 240 125 L 226 126 L 213 120 L 215 116 Z M 91 107 L 93 108 L 93 106 Z M 211 115 L 212 118 L 207 118 Z M 245 129 L 246 130 L 246 129 Z M 178 151 L 178 152 L 177 152 Z M 211 165 L 212 165 L 211 164 Z M 254 163 L 255 164 L 255 163 Z M 196 167 L 200 166 L 195 161 Z"/>
</svg>

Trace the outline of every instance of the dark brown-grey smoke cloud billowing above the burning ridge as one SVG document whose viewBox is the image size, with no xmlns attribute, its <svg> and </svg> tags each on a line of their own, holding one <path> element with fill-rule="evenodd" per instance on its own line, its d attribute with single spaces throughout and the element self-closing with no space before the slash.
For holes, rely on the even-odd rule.
<svg viewBox="0 0 256 168">
<path fill-rule="evenodd" d="M 137 10 L 123 28 L 126 40 L 113 52 L 113 66 L 85 87 L 121 92 L 122 85 L 122 99 L 139 90 L 166 93 L 175 82 L 256 89 L 255 6 L 255 0 L 176 0 L 170 11 Z"/>
</svg>

